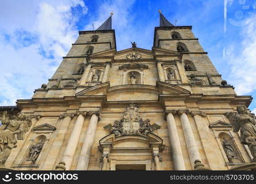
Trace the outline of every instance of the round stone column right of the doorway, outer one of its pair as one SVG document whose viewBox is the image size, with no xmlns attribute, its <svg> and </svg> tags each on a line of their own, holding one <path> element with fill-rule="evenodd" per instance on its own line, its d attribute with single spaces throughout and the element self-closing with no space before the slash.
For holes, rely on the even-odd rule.
<svg viewBox="0 0 256 184">
<path fill-rule="evenodd" d="M 190 122 L 187 117 L 187 111 L 185 110 L 179 110 L 178 113 L 180 115 L 180 121 L 182 124 L 182 129 L 185 136 L 185 141 L 187 144 L 188 149 L 188 155 L 190 157 L 190 162 L 192 163 L 192 166 L 194 166 L 195 160 L 200 158 L 200 153 L 198 151 L 198 147 L 196 145 L 196 140 L 190 125 Z"/>
</svg>

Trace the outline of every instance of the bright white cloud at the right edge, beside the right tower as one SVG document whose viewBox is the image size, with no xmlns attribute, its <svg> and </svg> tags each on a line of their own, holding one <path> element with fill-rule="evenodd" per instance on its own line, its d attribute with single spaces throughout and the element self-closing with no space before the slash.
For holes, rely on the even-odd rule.
<svg viewBox="0 0 256 184">
<path fill-rule="evenodd" d="M 248 18 L 242 28 L 241 48 L 230 45 L 227 50 L 228 62 L 231 66 L 230 82 L 236 86 L 239 95 L 256 90 L 256 15 Z M 238 52 L 241 50 L 241 53 Z M 235 52 L 236 51 L 236 52 Z"/>
</svg>

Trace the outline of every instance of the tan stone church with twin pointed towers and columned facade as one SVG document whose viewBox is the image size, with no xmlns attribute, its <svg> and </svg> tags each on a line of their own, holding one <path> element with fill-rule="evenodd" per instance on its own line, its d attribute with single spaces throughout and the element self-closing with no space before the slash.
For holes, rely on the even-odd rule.
<svg viewBox="0 0 256 184">
<path fill-rule="evenodd" d="M 111 15 L 79 31 L 31 99 L 0 107 L 0 170 L 255 169 L 251 101 L 222 79 L 192 26 L 160 12 L 152 50 L 117 51 Z"/>
</svg>

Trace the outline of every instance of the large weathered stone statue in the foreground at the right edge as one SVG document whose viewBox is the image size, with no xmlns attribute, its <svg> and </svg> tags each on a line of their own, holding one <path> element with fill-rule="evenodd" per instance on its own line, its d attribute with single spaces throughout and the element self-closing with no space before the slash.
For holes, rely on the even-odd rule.
<svg viewBox="0 0 256 184">
<path fill-rule="evenodd" d="M 250 151 L 252 155 L 254 155 L 256 149 L 256 145 L 254 144 L 256 139 L 255 115 L 247 112 L 244 105 L 238 105 L 236 110 L 238 112 L 227 113 L 227 117 L 230 119 L 230 123 L 233 126 L 233 132 L 240 130 L 242 144 L 249 145 Z M 254 162 L 255 161 L 256 155 L 254 155 Z"/>
</svg>

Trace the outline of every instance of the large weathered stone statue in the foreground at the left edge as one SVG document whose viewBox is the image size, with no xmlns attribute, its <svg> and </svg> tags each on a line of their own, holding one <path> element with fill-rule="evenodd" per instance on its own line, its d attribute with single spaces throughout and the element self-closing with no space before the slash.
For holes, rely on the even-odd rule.
<svg viewBox="0 0 256 184">
<path fill-rule="evenodd" d="M 23 140 L 31 126 L 31 119 L 24 113 L 12 115 L 9 120 L 6 120 L 6 114 L 7 111 L 4 111 L 2 115 L 2 125 L 6 128 L 0 131 L 0 166 L 4 166 L 12 148 L 17 147 L 17 139 Z"/>
</svg>

